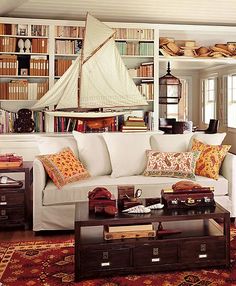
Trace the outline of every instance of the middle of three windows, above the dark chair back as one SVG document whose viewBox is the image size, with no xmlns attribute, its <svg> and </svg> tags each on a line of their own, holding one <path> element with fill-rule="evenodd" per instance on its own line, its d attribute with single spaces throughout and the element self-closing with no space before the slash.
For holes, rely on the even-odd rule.
<svg viewBox="0 0 236 286">
<path fill-rule="evenodd" d="M 210 119 L 216 119 L 217 79 L 202 80 L 202 121 L 206 124 Z"/>
</svg>

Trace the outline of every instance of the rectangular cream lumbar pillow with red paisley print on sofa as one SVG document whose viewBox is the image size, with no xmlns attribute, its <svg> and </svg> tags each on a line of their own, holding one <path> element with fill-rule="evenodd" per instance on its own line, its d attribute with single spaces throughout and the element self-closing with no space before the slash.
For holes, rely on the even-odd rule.
<svg viewBox="0 0 236 286">
<path fill-rule="evenodd" d="M 195 166 L 200 152 L 147 151 L 145 176 L 195 179 Z"/>
</svg>

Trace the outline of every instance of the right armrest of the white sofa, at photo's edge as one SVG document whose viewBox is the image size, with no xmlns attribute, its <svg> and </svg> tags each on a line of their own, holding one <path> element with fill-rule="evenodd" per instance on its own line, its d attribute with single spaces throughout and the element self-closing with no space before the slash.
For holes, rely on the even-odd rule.
<svg viewBox="0 0 236 286">
<path fill-rule="evenodd" d="M 221 166 L 221 175 L 228 180 L 228 194 L 232 202 L 232 217 L 236 217 L 236 155 L 228 153 Z"/>
</svg>

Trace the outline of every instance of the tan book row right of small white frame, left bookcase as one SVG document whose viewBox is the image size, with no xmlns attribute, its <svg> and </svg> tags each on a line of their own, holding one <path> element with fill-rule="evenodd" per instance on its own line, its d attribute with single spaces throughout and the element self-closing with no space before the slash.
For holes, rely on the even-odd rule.
<svg viewBox="0 0 236 286">
<path fill-rule="evenodd" d="M 30 58 L 29 72 L 31 76 L 48 76 L 47 57 L 32 56 Z"/>
</svg>

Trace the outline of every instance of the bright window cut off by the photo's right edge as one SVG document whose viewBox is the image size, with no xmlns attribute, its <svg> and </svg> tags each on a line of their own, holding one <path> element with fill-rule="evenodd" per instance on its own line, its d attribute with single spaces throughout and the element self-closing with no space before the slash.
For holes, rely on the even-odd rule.
<svg viewBox="0 0 236 286">
<path fill-rule="evenodd" d="M 236 128 L 236 74 L 227 77 L 228 127 Z"/>
</svg>

